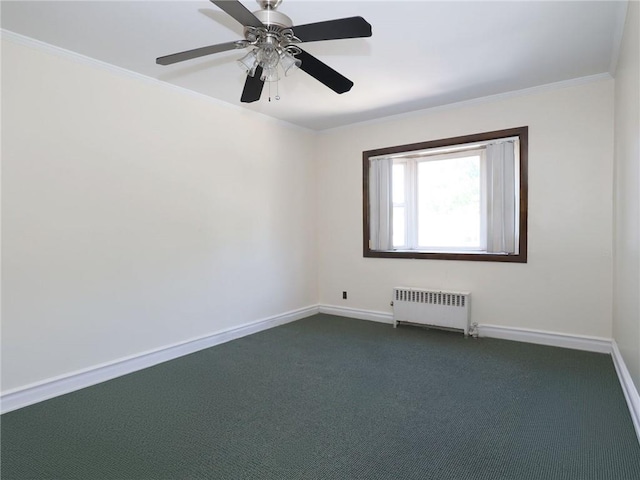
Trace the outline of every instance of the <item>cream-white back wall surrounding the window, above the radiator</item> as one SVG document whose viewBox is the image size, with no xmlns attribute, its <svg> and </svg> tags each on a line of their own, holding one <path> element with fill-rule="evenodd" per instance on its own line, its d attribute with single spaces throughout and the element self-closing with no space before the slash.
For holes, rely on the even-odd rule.
<svg viewBox="0 0 640 480">
<path fill-rule="evenodd" d="M 363 258 L 363 150 L 525 125 L 527 264 Z M 318 159 L 320 303 L 390 312 L 397 285 L 469 290 L 480 324 L 610 338 L 612 128 L 613 81 L 605 79 L 326 132 Z"/>
</svg>

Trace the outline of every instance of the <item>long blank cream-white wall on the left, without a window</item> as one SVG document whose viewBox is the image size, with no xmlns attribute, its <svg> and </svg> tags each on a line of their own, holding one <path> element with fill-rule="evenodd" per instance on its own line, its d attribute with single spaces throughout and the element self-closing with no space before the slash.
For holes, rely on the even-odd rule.
<svg viewBox="0 0 640 480">
<path fill-rule="evenodd" d="M 11 41 L 2 123 L 3 391 L 317 303 L 310 132 Z"/>
</svg>

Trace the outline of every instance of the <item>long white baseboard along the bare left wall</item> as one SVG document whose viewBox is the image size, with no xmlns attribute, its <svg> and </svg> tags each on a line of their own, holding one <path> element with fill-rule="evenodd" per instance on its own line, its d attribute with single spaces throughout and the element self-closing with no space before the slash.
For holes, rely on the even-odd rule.
<svg viewBox="0 0 640 480">
<path fill-rule="evenodd" d="M 199 338 L 167 345 L 112 362 L 96 365 L 87 369 L 33 383 L 17 389 L 3 392 L 0 396 L 0 412 L 6 413 L 34 403 L 64 395 L 81 388 L 105 382 L 143 368 L 148 368 L 174 358 L 235 340 L 252 333 L 300 320 L 318 313 L 318 306 L 293 310 L 280 315 L 228 328 Z"/>
</svg>

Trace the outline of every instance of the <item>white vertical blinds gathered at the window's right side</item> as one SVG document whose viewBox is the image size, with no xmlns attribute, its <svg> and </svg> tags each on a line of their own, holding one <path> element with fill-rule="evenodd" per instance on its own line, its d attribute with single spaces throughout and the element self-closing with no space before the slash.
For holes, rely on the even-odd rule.
<svg viewBox="0 0 640 480">
<path fill-rule="evenodd" d="M 487 145 L 487 253 L 516 251 L 514 141 Z"/>
</svg>

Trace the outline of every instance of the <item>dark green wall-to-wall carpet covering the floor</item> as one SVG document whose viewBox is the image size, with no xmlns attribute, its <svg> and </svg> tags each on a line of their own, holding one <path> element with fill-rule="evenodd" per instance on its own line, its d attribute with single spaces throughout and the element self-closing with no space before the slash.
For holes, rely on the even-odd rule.
<svg viewBox="0 0 640 480">
<path fill-rule="evenodd" d="M 2 416 L 2 478 L 638 480 L 608 355 L 317 315 Z"/>
</svg>

